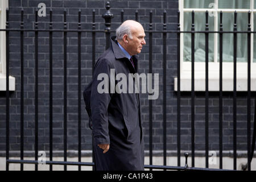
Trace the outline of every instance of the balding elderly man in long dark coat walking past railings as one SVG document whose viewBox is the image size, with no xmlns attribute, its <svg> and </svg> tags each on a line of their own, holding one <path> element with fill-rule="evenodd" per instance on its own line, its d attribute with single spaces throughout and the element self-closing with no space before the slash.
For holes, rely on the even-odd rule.
<svg viewBox="0 0 256 182">
<path fill-rule="evenodd" d="M 98 85 L 102 82 L 99 78 L 101 73 L 108 75 L 107 82 L 110 82 L 110 72 L 113 70 L 115 75 L 123 73 L 127 78 L 129 73 L 137 73 L 137 54 L 146 44 L 144 36 L 140 23 L 126 20 L 117 28 L 116 39 L 112 37 L 110 48 L 95 65 L 90 109 L 96 170 L 144 170 L 139 94 L 128 91 L 117 93 L 110 87 L 104 88 L 109 92 L 98 92 Z M 134 86 L 135 80 L 132 81 Z M 115 85 L 117 82 L 114 80 Z"/>
</svg>

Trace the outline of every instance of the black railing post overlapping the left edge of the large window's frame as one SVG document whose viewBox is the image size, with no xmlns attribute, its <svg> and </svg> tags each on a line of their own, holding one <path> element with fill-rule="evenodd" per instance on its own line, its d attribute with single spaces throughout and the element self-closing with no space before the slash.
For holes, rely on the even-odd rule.
<svg viewBox="0 0 256 182">
<path fill-rule="evenodd" d="M 177 11 L 177 166 L 180 166 L 180 11 Z"/>
</svg>

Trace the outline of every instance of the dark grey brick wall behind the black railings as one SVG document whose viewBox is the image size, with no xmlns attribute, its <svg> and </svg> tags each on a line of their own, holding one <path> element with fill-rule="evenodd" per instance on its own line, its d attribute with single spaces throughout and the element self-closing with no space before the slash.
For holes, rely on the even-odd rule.
<svg viewBox="0 0 256 182">
<path fill-rule="evenodd" d="M 92 11 L 96 11 L 96 29 L 105 28 L 106 1 L 66 1 L 66 0 L 9 0 L 10 28 L 19 28 L 20 10 L 24 9 L 24 28 L 34 27 L 35 10 L 39 3 L 46 4 L 46 17 L 38 17 L 39 28 L 49 27 L 49 9 L 53 11 L 53 28 L 63 28 L 63 11 L 67 10 L 68 28 L 77 28 L 78 10 L 81 9 L 82 29 L 92 28 Z M 112 30 L 124 19 L 138 20 L 145 30 L 149 28 L 149 13 L 153 13 L 153 30 L 163 28 L 163 10 L 167 11 L 167 30 L 176 30 L 178 1 L 109 1 L 114 14 Z M 105 49 L 104 33 L 97 33 L 96 58 Z M 114 35 L 114 34 L 113 34 Z M 162 35 L 153 34 L 153 73 L 159 73 L 159 98 L 153 100 L 153 149 L 163 149 L 163 72 Z M 148 34 L 146 34 L 148 43 Z M 35 48 L 34 32 L 24 32 L 24 150 L 34 150 L 34 82 Z M 49 149 L 49 38 L 48 32 L 39 32 L 39 150 Z M 82 33 L 82 89 L 92 75 L 92 34 Z M 176 35 L 167 35 L 167 150 L 176 150 Z M 77 33 L 68 33 L 68 150 L 77 149 Z M 143 48 L 139 60 L 139 72 L 148 72 L 148 44 Z M 10 150 L 19 150 L 20 135 L 20 38 L 19 32 L 10 32 L 10 75 L 16 78 L 16 90 L 10 93 Z M 63 150 L 63 33 L 53 32 L 53 150 Z M 246 150 L 246 93 L 237 94 L 237 147 Z M 191 96 L 181 94 L 181 150 L 191 149 Z M 233 101 L 232 93 L 224 93 L 224 150 L 233 148 Z M 141 94 L 142 119 L 146 150 L 149 142 L 147 94 Z M 195 100 L 195 149 L 205 148 L 205 99 L 204 93 L 196 93 Z M 251 110 L 254 111 L 254 100 Z M 5 92 L 0 92 L 0 150 L 5 150 Z M 92 147 L 91 131 L 82 102 L 82 150 Z M 251 117 L 253 121 L 253 115 Z M 251 125 L 253 126 L 253 125 Z M 209 150 L 218 150 L 218 93 L 211 92 L 209 99 Z"/>
</svg>

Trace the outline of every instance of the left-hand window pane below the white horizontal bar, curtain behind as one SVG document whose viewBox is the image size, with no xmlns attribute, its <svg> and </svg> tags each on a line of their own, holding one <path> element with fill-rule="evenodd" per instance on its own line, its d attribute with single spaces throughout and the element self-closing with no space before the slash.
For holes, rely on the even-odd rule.
<svg viewBox="0 0 256 182">
<path fill-rule="evenodd" d="M 191 14 L 184 13 L 184 31 L 191 31 Z M 208 18 L 209 30 L 214 30 L 214 17 Z M 205 30 L 205 13 L 195 12 L 195 30 Z M 184 49 L 183 49 L 184 61 L 191 61 L 191 34 L 184 33 Z M 195 33 L 195 61 L 205 61 L 205 34 Z M 209 62 L 214 61 L 214 35 L 209 34 Z"/>
</svg>

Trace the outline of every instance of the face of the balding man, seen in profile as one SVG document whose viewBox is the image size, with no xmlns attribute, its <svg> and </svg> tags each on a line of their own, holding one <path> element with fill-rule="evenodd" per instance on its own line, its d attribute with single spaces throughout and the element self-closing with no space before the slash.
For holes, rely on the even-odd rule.
<svg viewBox="0 0 256 182">
<path fill-rule="evenodd" d="M 137 53 L 141 53 L 142 46 L 146 44 L 144 37 L 146 36 L 144 33 L 143 27 L 131 28 L 131 34 L 133 39 L 130 39 L 127 36 L 129 53 L 131 55 L 137 55 Z"/>
</svg>

